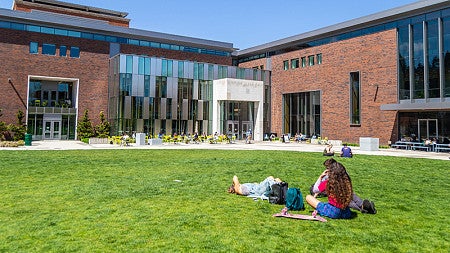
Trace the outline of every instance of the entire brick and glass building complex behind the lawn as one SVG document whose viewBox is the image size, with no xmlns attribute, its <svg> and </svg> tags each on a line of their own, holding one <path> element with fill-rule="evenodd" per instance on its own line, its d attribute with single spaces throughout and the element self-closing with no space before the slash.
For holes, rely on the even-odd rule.
<svg viewBox="0 0 450 253">
<path fill-rule="evenodd" d="M 86 109 L 94 123 L 104 111 L 112 134 L 450 136 L 448 1 L 243 50 L 130 28 L 126 16 L 54 0 L 0 9 L 0 120 L 26 111 L 34 139 L 75 139 Z"/>
</svg>

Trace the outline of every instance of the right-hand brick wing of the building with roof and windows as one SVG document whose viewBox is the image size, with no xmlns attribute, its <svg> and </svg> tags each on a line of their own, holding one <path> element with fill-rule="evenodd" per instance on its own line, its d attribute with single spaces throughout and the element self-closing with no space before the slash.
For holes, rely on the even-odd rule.
<svg viewBox="0 0 450 253">
<path fill-rule="evenodd" d="M 271 70 L 273 132 L 448 142 L 449 7 L 419 1 L 237 51 L 235 64 Z"/>
</svg>

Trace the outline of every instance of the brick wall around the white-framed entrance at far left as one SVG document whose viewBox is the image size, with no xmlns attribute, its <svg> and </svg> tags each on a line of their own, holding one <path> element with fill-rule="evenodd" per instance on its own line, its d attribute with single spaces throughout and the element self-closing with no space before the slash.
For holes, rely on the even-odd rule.
<svg viewBox="0 0 450 253">
<path fill-rule="evenodd" d="M 12 123 L 19 109 L 25 112 L 8 78 L 26 102 L 29 75 L 79 79 L 79 117 L 89 109 L 91 120 L 98 123 L 99 112 L 107 114 L 109 43 L 7 29 L 0 29 L 0 34 L 0 120 Z M 31 41 L 39 43 L 39 54 L 29 53 Z M 41 54 L 42 43 L 56 44 L 56 55 Z M 70 46 L 79 47 L 80 58 L 60 57 L 60 45 L 68 51 Z"/>
</svg>

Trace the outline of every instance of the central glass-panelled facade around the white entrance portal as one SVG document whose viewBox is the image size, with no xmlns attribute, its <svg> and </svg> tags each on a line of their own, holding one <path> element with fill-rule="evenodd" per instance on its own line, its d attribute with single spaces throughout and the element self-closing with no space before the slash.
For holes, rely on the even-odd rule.
<svg viewBox="0 0 450 253">
<path fill-rule="evenodd" d="M 124 54 L 110 64 L 113 135 L 211 134 L 213 80 L 221 78 L 264 81 L 264 115 L 270 115 L 269 71 Z M 269 122 L 265 117 L 265 132 L 270 132 Z"/>
</svg>

